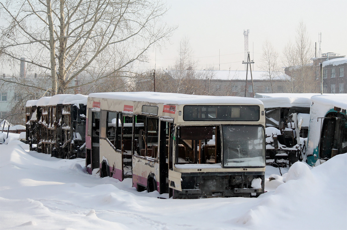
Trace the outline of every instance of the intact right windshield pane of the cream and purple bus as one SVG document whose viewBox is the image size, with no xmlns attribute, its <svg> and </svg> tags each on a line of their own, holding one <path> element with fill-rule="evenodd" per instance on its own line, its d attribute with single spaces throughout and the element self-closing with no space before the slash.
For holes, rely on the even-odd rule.
<svg viewBox="0 0 347 230">
<path fill-rule="evenodd" d="M 222 125 L 224 167 L 265 166 L 264 128 Z"/>
</svg>

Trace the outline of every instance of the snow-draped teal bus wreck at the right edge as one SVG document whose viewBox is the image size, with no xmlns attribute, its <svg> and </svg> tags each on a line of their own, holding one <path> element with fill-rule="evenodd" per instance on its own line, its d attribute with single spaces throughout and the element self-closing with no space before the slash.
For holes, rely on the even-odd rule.
<svg viewBox="0 0 347 230">
<path fill-rule="evenodd" d="M 311 97 L 306 161 L 317 165 L 347 152 L 347 94 Z"/>
</svg>

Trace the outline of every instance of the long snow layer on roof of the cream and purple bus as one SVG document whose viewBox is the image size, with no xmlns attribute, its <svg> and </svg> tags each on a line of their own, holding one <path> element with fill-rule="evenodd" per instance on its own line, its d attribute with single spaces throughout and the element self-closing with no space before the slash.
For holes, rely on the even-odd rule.
<svg viewBox="0 0 347 230">
<path fill-rule="evenodd" d="M 231 96 L 202 96 L 188 95 L 181 93 L 161 93 L 161 92 L 110 92 L 91 93 L 91 98 L 108 98 L 130 101 L 146 101 L 149 103 L 163 104 L 196 104 L 196 103 L 237 103 L 237 104 L 258 104 L 263 103 L 255 98 L 231 97 Z"/>
</svg>

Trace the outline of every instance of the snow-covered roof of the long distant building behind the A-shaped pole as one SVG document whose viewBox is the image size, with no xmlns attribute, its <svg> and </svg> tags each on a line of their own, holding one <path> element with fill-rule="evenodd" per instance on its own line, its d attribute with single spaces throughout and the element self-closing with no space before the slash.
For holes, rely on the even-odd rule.
<svg viewBox="0 0 347 230">
<path fill-rule="evenodd" d="M 178 70 L 166 71 L 172 76 L 179 73 Z M 189 72 L 189 70 L 187 70 Z M 197 70 L 194 71 L 195 74 L 203 75 L 206 77 L 210 76 L 212 80 L 246 80 L 247 71 L 238 71 L 238 70 Z M 274 80 L 283 80 L 286 79 L 286 75 L 283 73 L 278 73 L 277 77 L 274 77 Z M 252 71 L 253 80 L 268 80 L 267 72 L 265 71 Z M 251 72 L 248 70 L 247 80 L 251 80 Z"/>
</svg>

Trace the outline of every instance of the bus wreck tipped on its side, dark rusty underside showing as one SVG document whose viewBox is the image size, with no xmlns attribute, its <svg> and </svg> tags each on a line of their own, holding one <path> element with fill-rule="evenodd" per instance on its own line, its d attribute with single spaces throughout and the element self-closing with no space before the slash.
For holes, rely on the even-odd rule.
<svg viewBox="0 0 347 230">
<path fill-rule="evenodd" d="M 26 103 L 26 140 L 30 150 L 58 158 L 85 157 L 87 96 L 60 94 Z"/>
</svg>

